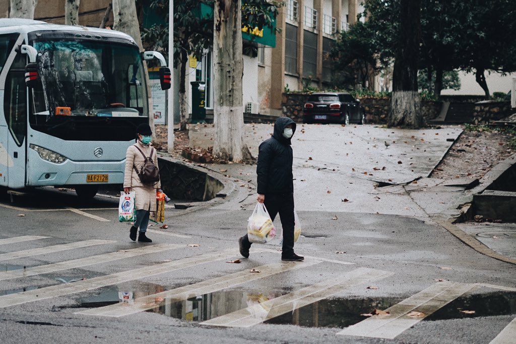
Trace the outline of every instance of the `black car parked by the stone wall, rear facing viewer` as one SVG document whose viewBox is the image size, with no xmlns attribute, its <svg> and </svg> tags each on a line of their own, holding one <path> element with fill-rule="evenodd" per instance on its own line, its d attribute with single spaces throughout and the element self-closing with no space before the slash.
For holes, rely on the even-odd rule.
<svg viewBox="0 0 516 344">
<path fill-rule="evenodd" d="M 304 104 L 303 123 L 364 124 L 365 110 L 349 93 L 313 93 Z"/>
</svg>

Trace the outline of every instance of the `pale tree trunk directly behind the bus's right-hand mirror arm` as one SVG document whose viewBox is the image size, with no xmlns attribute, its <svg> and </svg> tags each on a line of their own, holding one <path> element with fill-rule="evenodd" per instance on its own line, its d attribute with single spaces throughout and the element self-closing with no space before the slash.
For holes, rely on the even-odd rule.
<svg viewBox="0 0 516 344">
<path fill-rule="evenodd" d="M 140 24 L 138 23 L 138 16 L 136 14 L 136 4 L 133 0 L 113 0 L 113 29 L 126 33 L 134 38 L 136 44 L 143 51 L 140 36 Z M 145 79 L 147 82 L 148 97 L 149 97 L 149 125 L 152 128 L 152 140 L 156 140 L 156 130 L 154 129 L 154 116 L 152 116 L 152 95 L 149 83 L 149 71 L 147 70 L 147 63 L 143 61 L 143 69 Z"/>
</svg>

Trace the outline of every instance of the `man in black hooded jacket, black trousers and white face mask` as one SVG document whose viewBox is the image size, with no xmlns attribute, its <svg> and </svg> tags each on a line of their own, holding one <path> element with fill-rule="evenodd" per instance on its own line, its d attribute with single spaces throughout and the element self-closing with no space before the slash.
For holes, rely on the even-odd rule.
<svg viewBox="0 0 516 344">
<path fill-rule="evenodd" d="M 274 124 L 272 137 L 262 142 L 258 149 L 258 198 L 274 221 L 279 213 L 283 227 L 281 260 L 301 261 L 304 257 L 294 253 L 294 177 L 292 174 L 291 138 L 296 123 L 288 117 L 280 117 Z M 240 254 L 249 257 L 251 242 L 247 234 L 238 239 Z"/>
</svg>

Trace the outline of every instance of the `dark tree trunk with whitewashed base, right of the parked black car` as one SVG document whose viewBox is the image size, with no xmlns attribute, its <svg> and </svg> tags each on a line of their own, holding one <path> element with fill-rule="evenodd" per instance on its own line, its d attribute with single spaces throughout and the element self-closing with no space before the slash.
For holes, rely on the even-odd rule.
<svg viewBox="0 0 516 344">
<path fill-rule="evenodd" d="M 421 0 L 401 0 L 400 8 L 389 126 L 417 129 L 423 126 L 421 101 L 417 93 Z"/>
</svg>

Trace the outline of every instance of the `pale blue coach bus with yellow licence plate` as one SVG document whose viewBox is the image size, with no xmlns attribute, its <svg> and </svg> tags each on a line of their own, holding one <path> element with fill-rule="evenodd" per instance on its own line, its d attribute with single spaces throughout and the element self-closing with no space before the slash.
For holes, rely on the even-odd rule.
<svg viewBox="0 0 516 344">
<path fill-rule="evenodd" d="M 0 186 L 74 187 L 93 197 L 122 184 L 125 151 L 149 121 L 143 60 L 114 30 L 0 19 Z"/>
</svg>

